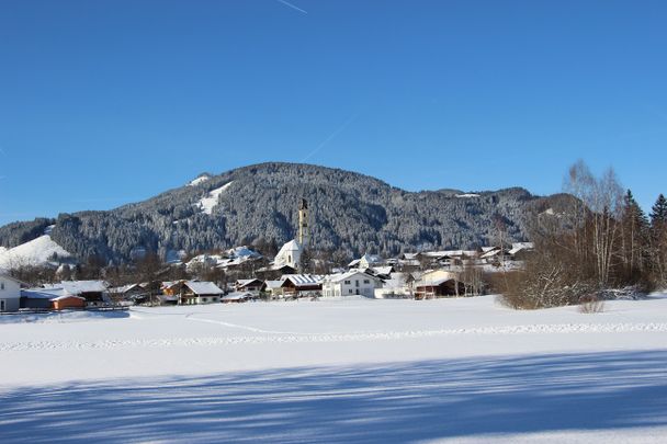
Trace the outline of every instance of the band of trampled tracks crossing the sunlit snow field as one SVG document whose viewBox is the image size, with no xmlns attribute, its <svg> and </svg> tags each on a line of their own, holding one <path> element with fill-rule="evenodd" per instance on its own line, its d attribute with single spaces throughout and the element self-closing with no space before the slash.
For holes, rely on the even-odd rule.
<svg viewBox="0 0 667 444">
<path fill-rule="evenodd" d="M 221 335 L 208 338 L 166 338 L 166 339 L 128 339 L 100 341 L 19 341 L 0 343 L 0 352 L 25 352 L 39 350 L 114 350 L 128 348 L 172 348 L 172 346 L 224 346 L 238 344 L 265 343 L 327 343 L 327 342 L 363 342 L 393 341 L 403 339 L 455 337 L 463 334 L 567 334 L 567 333 L 631 333 L 631 332 L 667 332 L 667 323 L 557 323 L 527 325 L 506 327 L 481 327 L 443 330 L 414 330 L 389 332 L 357 333 L 294 333 L 271 332 L 253 327 L 231 325 L 200 318 L 188 318 L 193 321 L 217 323 L 225 327 L 241 328 L 258 333 L 257 335 Z"/>
</svg>

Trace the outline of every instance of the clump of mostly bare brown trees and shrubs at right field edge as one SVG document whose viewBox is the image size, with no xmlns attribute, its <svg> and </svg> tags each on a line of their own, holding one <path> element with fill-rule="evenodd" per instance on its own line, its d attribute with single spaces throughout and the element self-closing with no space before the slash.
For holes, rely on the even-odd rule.
<svg viewBox="0 0 667 444">
<path fill-rule="evenodd" d="M 502 276 L 508 305 L 590 303 L 610 288 L 645 293 L 667 284 L 667 201 L 662 194 L 648 218 L 613 170 L 597 178 L 583 161 L 569 169 L 564 189 L 567 205 L 532 217 L 535 252 L 524 270 Z"/>
</svg>

